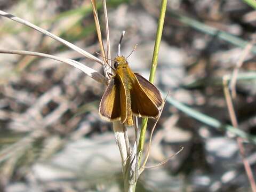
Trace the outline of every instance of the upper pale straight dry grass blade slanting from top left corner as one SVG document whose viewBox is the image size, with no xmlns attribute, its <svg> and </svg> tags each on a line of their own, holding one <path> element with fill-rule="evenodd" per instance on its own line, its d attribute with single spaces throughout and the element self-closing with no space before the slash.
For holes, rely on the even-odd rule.
<svg viewBox="0 0 256 192">
<path fill-rule="evenodd" d="M 1 10 L 0 10 L 0 15 L 2 15 L 3 17 L 9 18 L 9 19 L 11 19 L 11 20 L 13 20 L 13 21 L 17 21 L 17 22 L 19 22 L 19 23 L 21 23 L 21 24 L 23 24 L 23 25 L 26 25 L 26 26 L 28 26 L 28 27 L 30 27 L 30 28 L 32 28 L 32 29 L 35 29 L 35 30 L 37 30 L 37 31 L 39 31 L 39 32 L 41 32 L 41 33 L 43 33 L 43 34 L 45 34 L 45 35 L 47 35 L 47 36 L 49 36 L 49 37 L 55 39 L 56 41 L 58 41 L 58 42 L 60 42 L 60 43 L 65 44 L 66 46 L 68 46 L 68 47 L 70 47 L 71 49 L 77 51 L 78 53 L 81 53 L 81 54 L 84 55 L 86 58 L 89 58 L 89 59 L 91 59 L 91 60 L 93 60 L 93 61 L 95 61 L 95 62 L 100 63 L 101 65 L 104 65 L 104 62 L 103 62 L 102 60 L 100 60 L 100 59 L 98 59 L 97 57 L 93 56 L 92 54 L 90 54 L 90 53 L 84 51 L 84 50 L 81 49 L 80 47 L 78 47 L 78 46 L 76 46 L 76 45 L 74 45 L 74 44 L 72 44 L 72 43 L 69 43 L 68 41 L 66 41 L 66 40 L 64 40 L 64 39 L 62 39 L 62 38 L 60 38 L 60 37 L 58 37 L 58 36 L 56 36 L 56 35 L 50 33 L 50 32 L 47 31 L 47 30 L 44 30 L 44 29 L 42 29 L 42 28 L 40 28 L 40 27 L 38 27 L 38 26 L 36 26 L 36 25 L 34 25 L 34 24 L 32 24 L 32 23 L 26 21 L 26 20 L 23 20 L 23 19 L 21 19 L 21 18 L 15 17 L 14 15 L 9 14 L 9 13 L 6 13 L 6 12 L 1 11 Z"/>
</svg>

